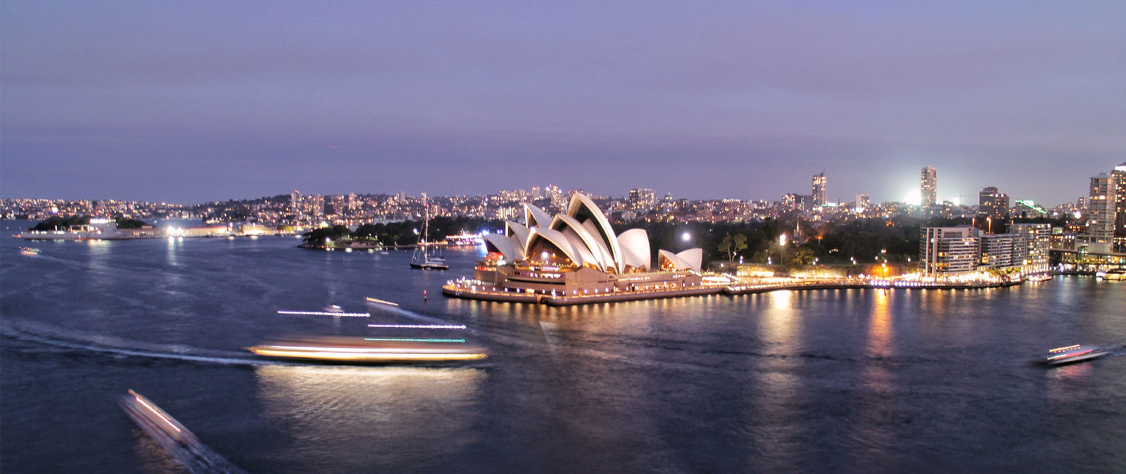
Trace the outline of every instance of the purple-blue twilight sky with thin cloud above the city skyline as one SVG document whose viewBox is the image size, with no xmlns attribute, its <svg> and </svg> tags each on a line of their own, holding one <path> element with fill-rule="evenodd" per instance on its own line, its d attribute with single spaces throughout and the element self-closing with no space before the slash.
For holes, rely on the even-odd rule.
<svg viewBox="0 0 1126 474">
<path fill-rule="evenodd" d="M 919 3 L 910 6 L 908 3 Z M 0 197 L 1056 205 L 1126 162 L 1123 1 L 0 2 Z"/>
</svg>

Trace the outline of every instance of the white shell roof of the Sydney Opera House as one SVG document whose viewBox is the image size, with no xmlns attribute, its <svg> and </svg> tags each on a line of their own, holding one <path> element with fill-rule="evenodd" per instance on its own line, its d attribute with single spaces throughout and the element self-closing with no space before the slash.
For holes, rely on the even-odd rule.
<svg viewBox="0 0 1126 474">
<path fill-rule="evenodd" d="M 631 229 L 615 235 L 602 211 L 582 194 L 575 194 L 566 213 L 551 217 L 543 209 L 524 205 L 526 225 L 504 223 L 504 234 L 485 235 L 490 252 L 509 262 L 542 266 L 588 267 L 622 274 L 650 269 L 649 234 Z M 701 249 L 680 253 L 659 252 L 658 268 L 700 271 Z"/>
</svg>

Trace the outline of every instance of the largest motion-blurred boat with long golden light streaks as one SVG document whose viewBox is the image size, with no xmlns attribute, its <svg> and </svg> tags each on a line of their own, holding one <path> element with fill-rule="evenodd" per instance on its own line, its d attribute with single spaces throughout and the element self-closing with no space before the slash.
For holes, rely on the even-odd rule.
<svg viewBox="0 0 1126 474">
<path fill-rule="evenodd" d="M 394 364 L 479 360 L 489 357 L 465 339 L 289 337 L 248 347 L 263 357 L 352 364 Z"/>
</svg>

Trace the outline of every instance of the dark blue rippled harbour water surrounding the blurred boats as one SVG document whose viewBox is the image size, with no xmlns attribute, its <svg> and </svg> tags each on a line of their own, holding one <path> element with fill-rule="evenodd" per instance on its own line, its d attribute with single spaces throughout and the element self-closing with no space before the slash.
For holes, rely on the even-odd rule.
<svg viewBox="0 0 1126 474">
<path fill-rule="evenodd" d="M 1126 286 L 776 292 L 591 306 L 441 296 L 409 251 L 294 238 L 0 239 L 0 469 L 187 472 L 122 413 L 136 390 L 233 465 L 357 472 L 1126 472 Z M 423 292 L 427 297 L 423 298 Z M 366 297 L 397 308 L 365 305 Z M 370 318 L 285 315 L 337 304 Z M 277 363 L 282 334 L 417 336 L 483 361 Z M 443 332 L 443 337 L 448 333 Z"/>
</svg>

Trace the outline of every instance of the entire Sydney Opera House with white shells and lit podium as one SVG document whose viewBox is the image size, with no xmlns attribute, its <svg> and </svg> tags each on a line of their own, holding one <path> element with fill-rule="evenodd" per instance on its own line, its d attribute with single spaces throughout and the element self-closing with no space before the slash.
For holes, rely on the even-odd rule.
<svg viewBox="0 0 1126 474">
<path fill-rule="evenodd" d="M 524 205 L 524 222 L 485 236 L 488 254 L 473 279 L 449 281 L 446 295 L 492 301 L 573 304 L 712 293 L 700 272 L 701 249 L 658 251 L 652 267 L 642 229 L 615 234 L 602 211 L 575 194 L 551 216 Z"/>
</svg>

